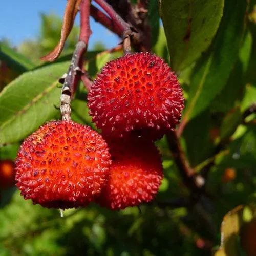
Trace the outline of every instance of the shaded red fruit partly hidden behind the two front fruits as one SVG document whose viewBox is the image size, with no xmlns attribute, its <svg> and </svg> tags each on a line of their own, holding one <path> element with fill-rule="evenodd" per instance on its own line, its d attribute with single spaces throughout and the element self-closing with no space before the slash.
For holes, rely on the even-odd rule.
<svg viewBox="0 0 256 256">
<path fill-rule="evenodd" d="M 153 200 L 163 178 L 161 156 L 154 143 L 130 139 L 109 146 L 110 177 L 97 202 L 119 210 Z"/>
</svg>

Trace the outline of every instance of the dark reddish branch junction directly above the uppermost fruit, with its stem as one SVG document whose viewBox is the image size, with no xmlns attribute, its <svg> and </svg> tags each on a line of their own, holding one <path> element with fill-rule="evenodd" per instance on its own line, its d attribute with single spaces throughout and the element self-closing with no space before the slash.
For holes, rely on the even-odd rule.
<svg viewBox="0 0 256 256">
<path fill-rule="evenodd" d="M 130 1 L 95 0 L 109 15 L 91 6 L 91 16 L 103 26 L 124 39 L 124 54 L 131 52 L 131 39 L 137 51 L 151 51 L 151 30 L 147 22 L 148 1 L 139 1 L 131 5 Z M 136 33 L 135 33 L 136 32 Z"/>
</svg>

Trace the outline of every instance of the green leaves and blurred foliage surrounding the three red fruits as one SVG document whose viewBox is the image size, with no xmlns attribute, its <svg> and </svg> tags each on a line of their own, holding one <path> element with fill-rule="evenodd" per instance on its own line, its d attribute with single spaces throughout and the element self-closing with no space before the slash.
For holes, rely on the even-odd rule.
<svg viewBox="0 0 256 256">
<path fill-rule="evenodd" d="M 195 13 L 195 24 L 192 18 L 187 24 L 188 2 L 162 1 L 162 26 L 158 6 L 150 1 L 149 22 L 153 52 L 173 63 L 184 90 L 180 140 L 191 167 L 206 177 L 205 192 L 195 195 L 183 184 L 165 137 L 156 142 L 165 178 L 156 200 L 139 209 L 112 212 L 92 203 L 66 210 L 60 218 L 58 210 L 25 201 L 14 186 L 0 187 L 1 256 L 256 255 L 256 3 L 198 1 L 201 16 Z M 61 18 L 41 14 L 36 40 L 15 48 L 8 40 L 0 42 L 2 162 L 14 160 L 22 140 L 39 125 L 60 118 L 54 108 L 58 79 L 69 66 L 79 28 L 73 28 L 59 60 L 39 60 L 55 47 L 60 29 Z M 89 75 L 94 78 L 121 54 L 105 51 L 99 41 L 86 55 Z M 72 119 L 94 127 L 86 95 L 80 84 Z"/>
</svg>

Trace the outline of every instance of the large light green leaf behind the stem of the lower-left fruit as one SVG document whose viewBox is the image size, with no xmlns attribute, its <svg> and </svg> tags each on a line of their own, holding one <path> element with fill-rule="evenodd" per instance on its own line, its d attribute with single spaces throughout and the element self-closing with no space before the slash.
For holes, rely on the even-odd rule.
<svg viewBox="0 0 256 256">
<path fill-rule="evenodd" d="M 58 79 L 70 62 L 22 74 L 0 93 L 0 144 L 24 139 L 58 113 Z"/>
</svg>

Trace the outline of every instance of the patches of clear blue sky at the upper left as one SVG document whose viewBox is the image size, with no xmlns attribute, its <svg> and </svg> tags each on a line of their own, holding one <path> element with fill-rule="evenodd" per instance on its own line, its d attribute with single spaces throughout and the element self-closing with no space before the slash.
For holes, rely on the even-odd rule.
<svg viewBox="0 0 256 256">
<path fill-rule="evenodd" d="M 55 13 L 62 17 L 67 0 L 5 0 L 1 3 L 0 40 L 7 38 L 11 44 L 17 46 L 25 39 L 33 39 L 40 28 L 40 13 Z M 91 18 L 90 45 L 104 38 L 106 47 L 114 47 L 120 41 L 113 33 L 106 30 Z M 79 14 L 76 18 L 79 24 Z"/>
</svg>

